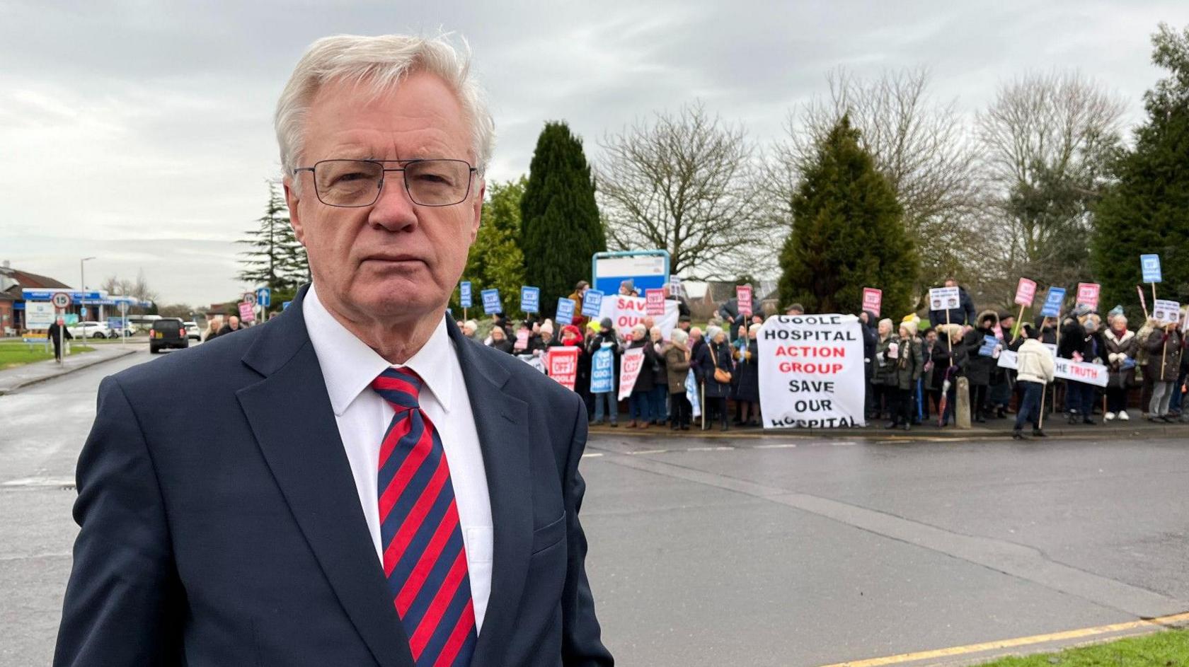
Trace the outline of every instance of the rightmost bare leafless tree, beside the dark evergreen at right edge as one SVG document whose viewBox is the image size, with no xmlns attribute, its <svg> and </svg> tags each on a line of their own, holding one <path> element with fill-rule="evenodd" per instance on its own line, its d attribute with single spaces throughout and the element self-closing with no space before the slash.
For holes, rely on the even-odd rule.
<svg viewBox="0 0 1189 667">
<path fill-rule="evenodd" d="M 1019 276 L 1071 287 L 1087 279 L 1094 202 L 1120 145 L 1122 100 L 1076 73 L 1028 75 L 1000 87 L 979 114 L 1006 292 Z M 1009 298 L 1009 297 L 1008 297 Z"/>
</svg>

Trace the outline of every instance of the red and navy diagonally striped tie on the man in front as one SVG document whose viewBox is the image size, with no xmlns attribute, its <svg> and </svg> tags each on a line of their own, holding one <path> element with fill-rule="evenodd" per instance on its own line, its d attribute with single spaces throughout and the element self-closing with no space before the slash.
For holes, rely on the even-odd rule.
<svg viewBox="0 0 1189 667">
<path fill-rule="evenodd" d="M 478 634 L 466 549 L 446 452 L 417 401 L 422 384 L 408 369 L 372 380 L 396 411 L 377 480 L 384 575 L 417 667 L 467 666 Z"/>
</svg>

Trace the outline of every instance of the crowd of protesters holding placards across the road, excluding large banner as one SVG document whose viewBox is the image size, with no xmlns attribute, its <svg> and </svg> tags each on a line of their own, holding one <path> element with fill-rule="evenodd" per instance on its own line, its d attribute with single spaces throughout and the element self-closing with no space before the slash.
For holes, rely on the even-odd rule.
<svg viewBox="0 0 1189 667">
<path fill-rule="evenodd" d="M 954 281 L 945 285 L 957 287 Z M 589 287 L 579 283 L 570 296 L 578 303 L 575 312 L 580 313 Z M 619 294 L 638 295 L 630 282 L 621 287 Z M 610 319 L 575 316 L 559 332 L 549 320 L 530 316 L 514 327 L 503 314 L 496 314 L 484 342 L 526 358 L 540 357 L 554 346 L 577 347 L 574 390 L 586 401 L 592 424 L 618 426 L 619 357 L 627 350 L 641 348 L 643 365 L 627 401 L 628 428 L 667 424 L 674 430 L 690 429 L 690 371 L 702 407 L 700 428 L 760 426 L 756 336 L 765 320 L 760 302 L 754 301 L 751 314 L 744 314 L 746 304 L 741 308 L 730 298 L 702 329 L 692 326 L 684 298 L 667 289 L 665 296 L 678 301 L 679 308 L 678 328 L 668 335 L 652 317 L 631 329 L 617 331 Z M 800 315 L 805 309 L 791 304 L 784 312 Z M 912 314 L 894 321 L 862 312 L 858 320 L 867 371 L 867 419 L 887 420 L 887 428 L 908 430 L 925 422 L 943 427 L 955 423 L 958 378 L 965 378 L 969 386 L 970 421 L 1007 420 L 1014 413 L 1017 439 L 1025 439 L 1028 424 L 1032 436 L 1043 438 L 1044 415 L 1055 419 L 1058 408 L 1070 424 L 1096 423 L 1096 415 L 1108 422 L 1128 421 L 1133 398 L 1138 398 L 1144 419 L 1181 420 L 1189 353 L 1179 326 L 1162 326 L 1149 319 L 1133 331 L 1121 307 L 1105 319 L 1077 307 L 1059 321 L 1037 317 L 1017 326 L 1012 313 L 977 312 L 960 288 L 957 308 L 932 310 L 927 319 Z M 463 325 L 468 336 L 477 335 L 478 328 L 476 321 Z M 1052 353 L 1046 346 L 1056 346 L 1057 355 L 1064 359 L 1108 366 L 1107 386 L 1055 380 Z M 615 380 L 611 391 L 591 392 L 592 358 L 602 350 L 614 354 Z M 1015 369 L 999 365 L 1004 351 L 1017 354 Z M 1185 417 L 1189 421 L 1189 414 Z"/>
</svg>

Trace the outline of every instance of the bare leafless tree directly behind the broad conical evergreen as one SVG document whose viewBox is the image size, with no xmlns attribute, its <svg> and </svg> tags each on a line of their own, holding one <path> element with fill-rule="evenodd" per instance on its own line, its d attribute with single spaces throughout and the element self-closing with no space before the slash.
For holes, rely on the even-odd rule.
<svg viewBox="0 0 1189 667">
<path fill-rule="evenodd" d="M 773 191 L 791 201 L 817 146 L 848 114 L 860 131 L 860 145 L 904 207 L 921 262 L 921 284 L 968 276 L 979 256 L 980 183 L 975 144 L 954 102 L 930 94 L 924 68 L 887 71 L 872 81 L 839 69 L 826 78 L 829 99 L 814 99 L 786 120 L 787 139 L 774 146 L 768 170 Z"/>
</svg>

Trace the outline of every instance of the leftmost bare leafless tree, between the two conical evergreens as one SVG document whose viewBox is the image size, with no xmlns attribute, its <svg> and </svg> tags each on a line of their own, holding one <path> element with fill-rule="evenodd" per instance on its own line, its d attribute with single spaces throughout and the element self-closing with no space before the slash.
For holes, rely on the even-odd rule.
<svg viewBox="0 0 1189 667">
<path fill-rule="evenodd" d="M 597 194 L 609 245 L 665 248 L 673 273 L 705 279 L 775 266 L 782 221 L 754 145 L 696 102 L 599 143 Z"/>
</svg>

